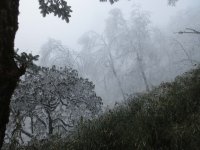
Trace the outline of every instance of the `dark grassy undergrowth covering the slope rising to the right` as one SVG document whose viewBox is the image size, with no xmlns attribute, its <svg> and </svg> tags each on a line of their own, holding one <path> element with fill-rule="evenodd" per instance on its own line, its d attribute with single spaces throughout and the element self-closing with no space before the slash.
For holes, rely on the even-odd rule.
<svg viewBox="0 0 200 150">
<path fill-rule="evenodd" d="M 200 67 L 137 94 L 84 121 L 65 139 L 34 141 L 27 150 L 199 150 Z M 20 147 L 22 149 L 22 147 Z"/>
</svg>

